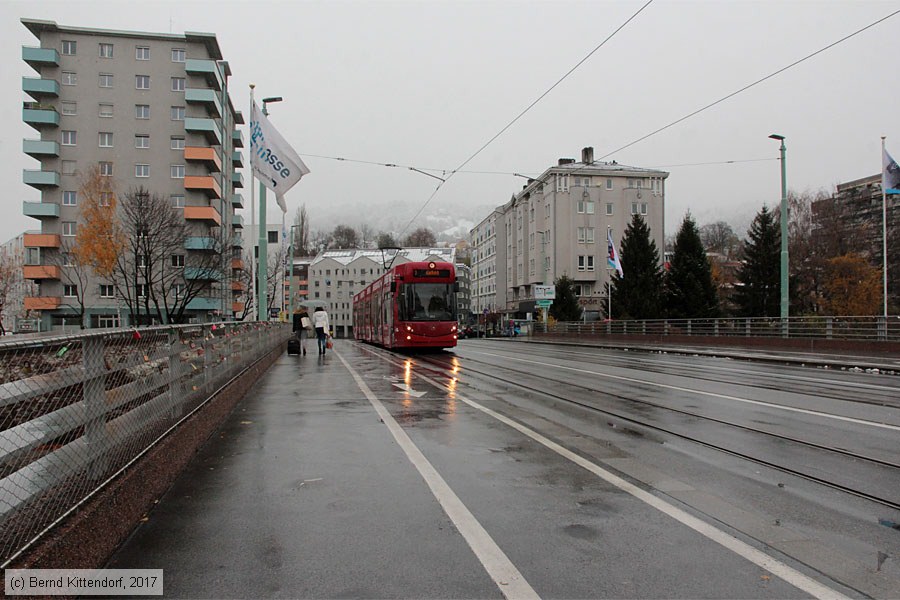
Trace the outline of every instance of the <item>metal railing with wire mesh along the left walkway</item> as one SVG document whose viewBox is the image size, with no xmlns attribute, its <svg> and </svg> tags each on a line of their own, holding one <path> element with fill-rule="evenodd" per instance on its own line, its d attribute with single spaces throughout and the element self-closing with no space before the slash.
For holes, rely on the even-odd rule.
<svg viewBox="0 0 900 600">
<path fill-rule="evenodd" d="M 0 342 L 0 562 L 289 336 L 252 322 Z"/>
</svg>

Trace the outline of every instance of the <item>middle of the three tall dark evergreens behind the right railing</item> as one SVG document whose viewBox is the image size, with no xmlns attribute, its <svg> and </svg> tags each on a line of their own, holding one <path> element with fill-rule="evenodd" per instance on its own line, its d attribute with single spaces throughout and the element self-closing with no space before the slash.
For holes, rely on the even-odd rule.
<svg viewBox="0 0 900 600">
<path fill-rule="evenodd" d="M 706 319 L 719 316 L 719 297 L 700 231 L 690 213 L 675 237 L 675 251 L 666 277 L 666 303 L 673 319 Z"/>
</svg>

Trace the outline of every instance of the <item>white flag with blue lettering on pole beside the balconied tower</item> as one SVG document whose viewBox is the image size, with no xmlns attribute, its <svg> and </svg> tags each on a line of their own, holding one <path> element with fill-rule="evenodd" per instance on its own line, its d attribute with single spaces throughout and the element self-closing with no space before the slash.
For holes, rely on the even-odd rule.
<svg viewBox="0 0 900 600">
<path fill-rule="evenodd" d="M 253 175 L 275 193 L 283 212 L 287 212 L 284 195 L 309 173 L 300 156 L 272 127 L 256 102 L 250 108 L 250 167 Z"/>
</svg>

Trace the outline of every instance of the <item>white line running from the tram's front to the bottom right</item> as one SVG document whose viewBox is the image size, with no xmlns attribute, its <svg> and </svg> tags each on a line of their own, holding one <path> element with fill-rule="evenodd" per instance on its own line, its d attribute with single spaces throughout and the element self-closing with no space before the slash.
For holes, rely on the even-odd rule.
<svg viewBox="0 0 900 600">
<path fill-rule="evenodd" d="M 447 386 L 440 384 L 439 382 L 431 379 L 430 377 L 427 377 L 425 375 L 420 375 L 418 373 L 415 374 L 415 377 L 419 377 L 423 381 L 427 381 L 431 385 L 433 385 L 441 390 L 445 390 L 445 391 L 447 390 Z M 803 573 L 801 573 L 800 571 L 797 571 L 793 567 L 790 567 L 790 566 L 786 565 L 785 563 L 783 563 L 775 558 L 772 558 L 771 556 L 767 555 L 765 552 L 762 552 L 761 550 L 754 548 L 753 546 L 747 544 L 746 542 L 742 542 L 741 540 L 737 539 L 736 537 L 734 537 L 728 533 L 725 533 L 721 529 L 717 529 L 713 525 L 710 525 L 709 523 L 706 523 L 705 521 L 698 519 L 697 517 L 666 502 L 665 500 L 654 496 L 653 494 L 637 487 L 636 485 L 634 485 L 632 483 L 629 483 L 628 481 L 622 479 L 618 475 L 615 475 L 614 473 L 607 471 L 603 467 L 601 467 L 595 463 L 592 463 L 591 461 L 587 460 L 586 458 L 583 458 L 583 457 L 575 454 L 568 448 L 565 448 L 565 447 L 557 444 L 556 442 L 550 440 L 549 438 L 544 437 L 543 435 L 541 435 L 540 433 L 538 433 L 532 429 L 529 429 L 528 427 L 522 425 L 521 423 L 513 421 L 512 419 L 510 419 L 504 415 L 501 415 L 500 413 L 498 413 L 494 410 L 491 410 L 490 408 L 483 406 L 483 405 L 475 402 L 474 400 L 469 400 L 468 398 L 461 396 L 459 393 L 456 393 L 455 397 L 457 400 L 459 400 L 461 402 L 465 402 L 467 405 L 471 406 L 472 408 L 480 410 L 481 412 L 497 419 L 501 423 L 504 423 L 504 424 L 512 427 L 516 431 L 519 431 L 520 433 L 528 436 L 529 438 L 533 439 L 537 443 L 545 446 L 546 448 L 552 450 L 553 452 L 556 452 L 563 458 L 570 460 L 571 462 L 575 463 L 576 465 L 590 471 L 594 475 L 597 475 L 604 481 L 616 486 L 623 492 L 631 494 L 638 500 L 648 504 L 649 506 L 655 508 L 656 510 L 662 512 L 663 514 L 666 514 L 669 517 L 675 519 L 679 523 L 686 525 L 687 527 L 690 527 L 691 529 L 693 529 L 700 535 L 706 537 L 707 539 L 709 539 L 713 542 L 716 542 L 717 544 L 727 548 L 728 550 L 731 550 L 738 556 L 741 556 L 741 557 L 745 558 L 746 560 L 752 562 L 753 564 L 772 573 L 773 575 L 780 577 L 787 583 L 793 585 L 794 587 L 796 587 L 799 590 L 802 590 L 802 591 L 808 593 L 809 595 L 813 596 L 814 598 L 822 598 L 822 599 L 827 598 L 830 600 L 838 600 L 838 599 L 849 600 L 846 596 L 837 592 L 836 590 L 833 590 L 833 589 L 829 588 L 828 586 L 825 586 L 825 585 L 819 583 L 815 579 L 812 579 L 811 577 L 804 575 Z"/>
</svg>

